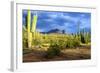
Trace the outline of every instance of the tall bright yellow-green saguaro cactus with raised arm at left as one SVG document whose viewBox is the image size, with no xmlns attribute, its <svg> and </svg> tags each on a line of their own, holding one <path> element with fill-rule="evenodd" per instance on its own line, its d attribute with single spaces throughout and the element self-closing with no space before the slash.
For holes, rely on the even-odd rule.
<svg viewBox="0 0 100 73">
<path fill-rule="evenodd" d="M 32 19 L 32 29 L 31 29 L 31 11 L 28 10 L 27 13 L 27 35 L 28 35 L 28 48 L 32 47 L 32 37 L 35 38 L 36 32 L 37 15 L 33 16 Z"/>
</svg>

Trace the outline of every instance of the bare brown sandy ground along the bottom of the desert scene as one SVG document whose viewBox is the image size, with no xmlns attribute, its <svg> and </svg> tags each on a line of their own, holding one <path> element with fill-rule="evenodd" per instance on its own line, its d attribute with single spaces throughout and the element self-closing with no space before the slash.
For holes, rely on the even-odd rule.
<svg viewBox="0 0 100 73">
<path fill-rule="evenodd" d="M 23 54 L 23 62 L 41 62 L 41 61 L 61 61 L 61 60 L 83 60 L 91 59 L 91 47 L 82 46 L 77 48 L 68 48 L 61 51 L 59 56 L 46 58 L 45 51 L 31 50 Z"/>
</svg>

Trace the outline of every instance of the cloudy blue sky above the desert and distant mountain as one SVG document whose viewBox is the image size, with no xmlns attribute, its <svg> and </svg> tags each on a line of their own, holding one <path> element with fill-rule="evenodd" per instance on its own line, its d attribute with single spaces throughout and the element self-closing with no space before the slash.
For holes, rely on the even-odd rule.
<svg viewBox="0 0 100 73">
<path fill-rule="evenodd" d="M 39 32 L 47 32 L 52 29 L 59 29 L 65 30 L 66 33 L 77 33 L 78 22 L 80 22 L 80 30 L 91 29 L 91 13 L 31 10 L 31 17 L 33 17 L 35 13 L 38 15 L 36 30 Z M 27 16 L 27 10 L 23 10 L 22 15 L 23 25 L 25 25 L 25 16 Z"/>
</svg>

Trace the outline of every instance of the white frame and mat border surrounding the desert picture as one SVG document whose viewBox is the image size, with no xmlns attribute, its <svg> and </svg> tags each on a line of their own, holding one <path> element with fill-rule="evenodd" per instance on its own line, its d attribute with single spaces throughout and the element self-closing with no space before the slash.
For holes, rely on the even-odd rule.
<svg viewBox="0 0 100 73">
<path fill-rule="evenodd" d="M 58 5 L 41 5 L 33 3 L 18 3 L 14 4 L 14 44 L 13 44 L 13 64 L 12 70 L 39 70 L 39 69 L 55 69 L 66 67 L 80 67 L 80 66 L 93 66 L 96 65 L 96 8 L 95 7 L 77 7 L 77 6 L 58 6 Z M 73 12 L 91 12 L 91 29 L 92 29 L 92 42 L 91 42 L 91 60 L 73 60 L 73 61 L 53 61 L 53 62 L 33 62 L 22 63 L 22 9 L 31 10 L 49 10 L 49 11 L 73 11 Z"/>
</svg>

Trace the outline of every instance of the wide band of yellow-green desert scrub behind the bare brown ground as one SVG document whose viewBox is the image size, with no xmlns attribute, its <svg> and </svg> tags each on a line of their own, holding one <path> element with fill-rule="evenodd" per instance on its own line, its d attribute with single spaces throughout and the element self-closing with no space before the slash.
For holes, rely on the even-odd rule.
<svg viewBox="0 0 100 73">
<path fill-rule="evenodd" d="M 91 35 L 90 33 L 80 33 L 80 34 L 42 34 L 35 32 L 35 35 L 32 37 L 32 46 L 43 46 L 51 48 L 54 45 L 54 48 L 64 49 L 64 48 L 76 48 L 80 46 L 80 43 L 90 43 Z M 27 48 L 27 31 L 23 31 L 23 47 Z M 56 45 L 56 47 L 55 47 Z M 52 46 L 53 47 L 53 46 Z"/>
</svg>

